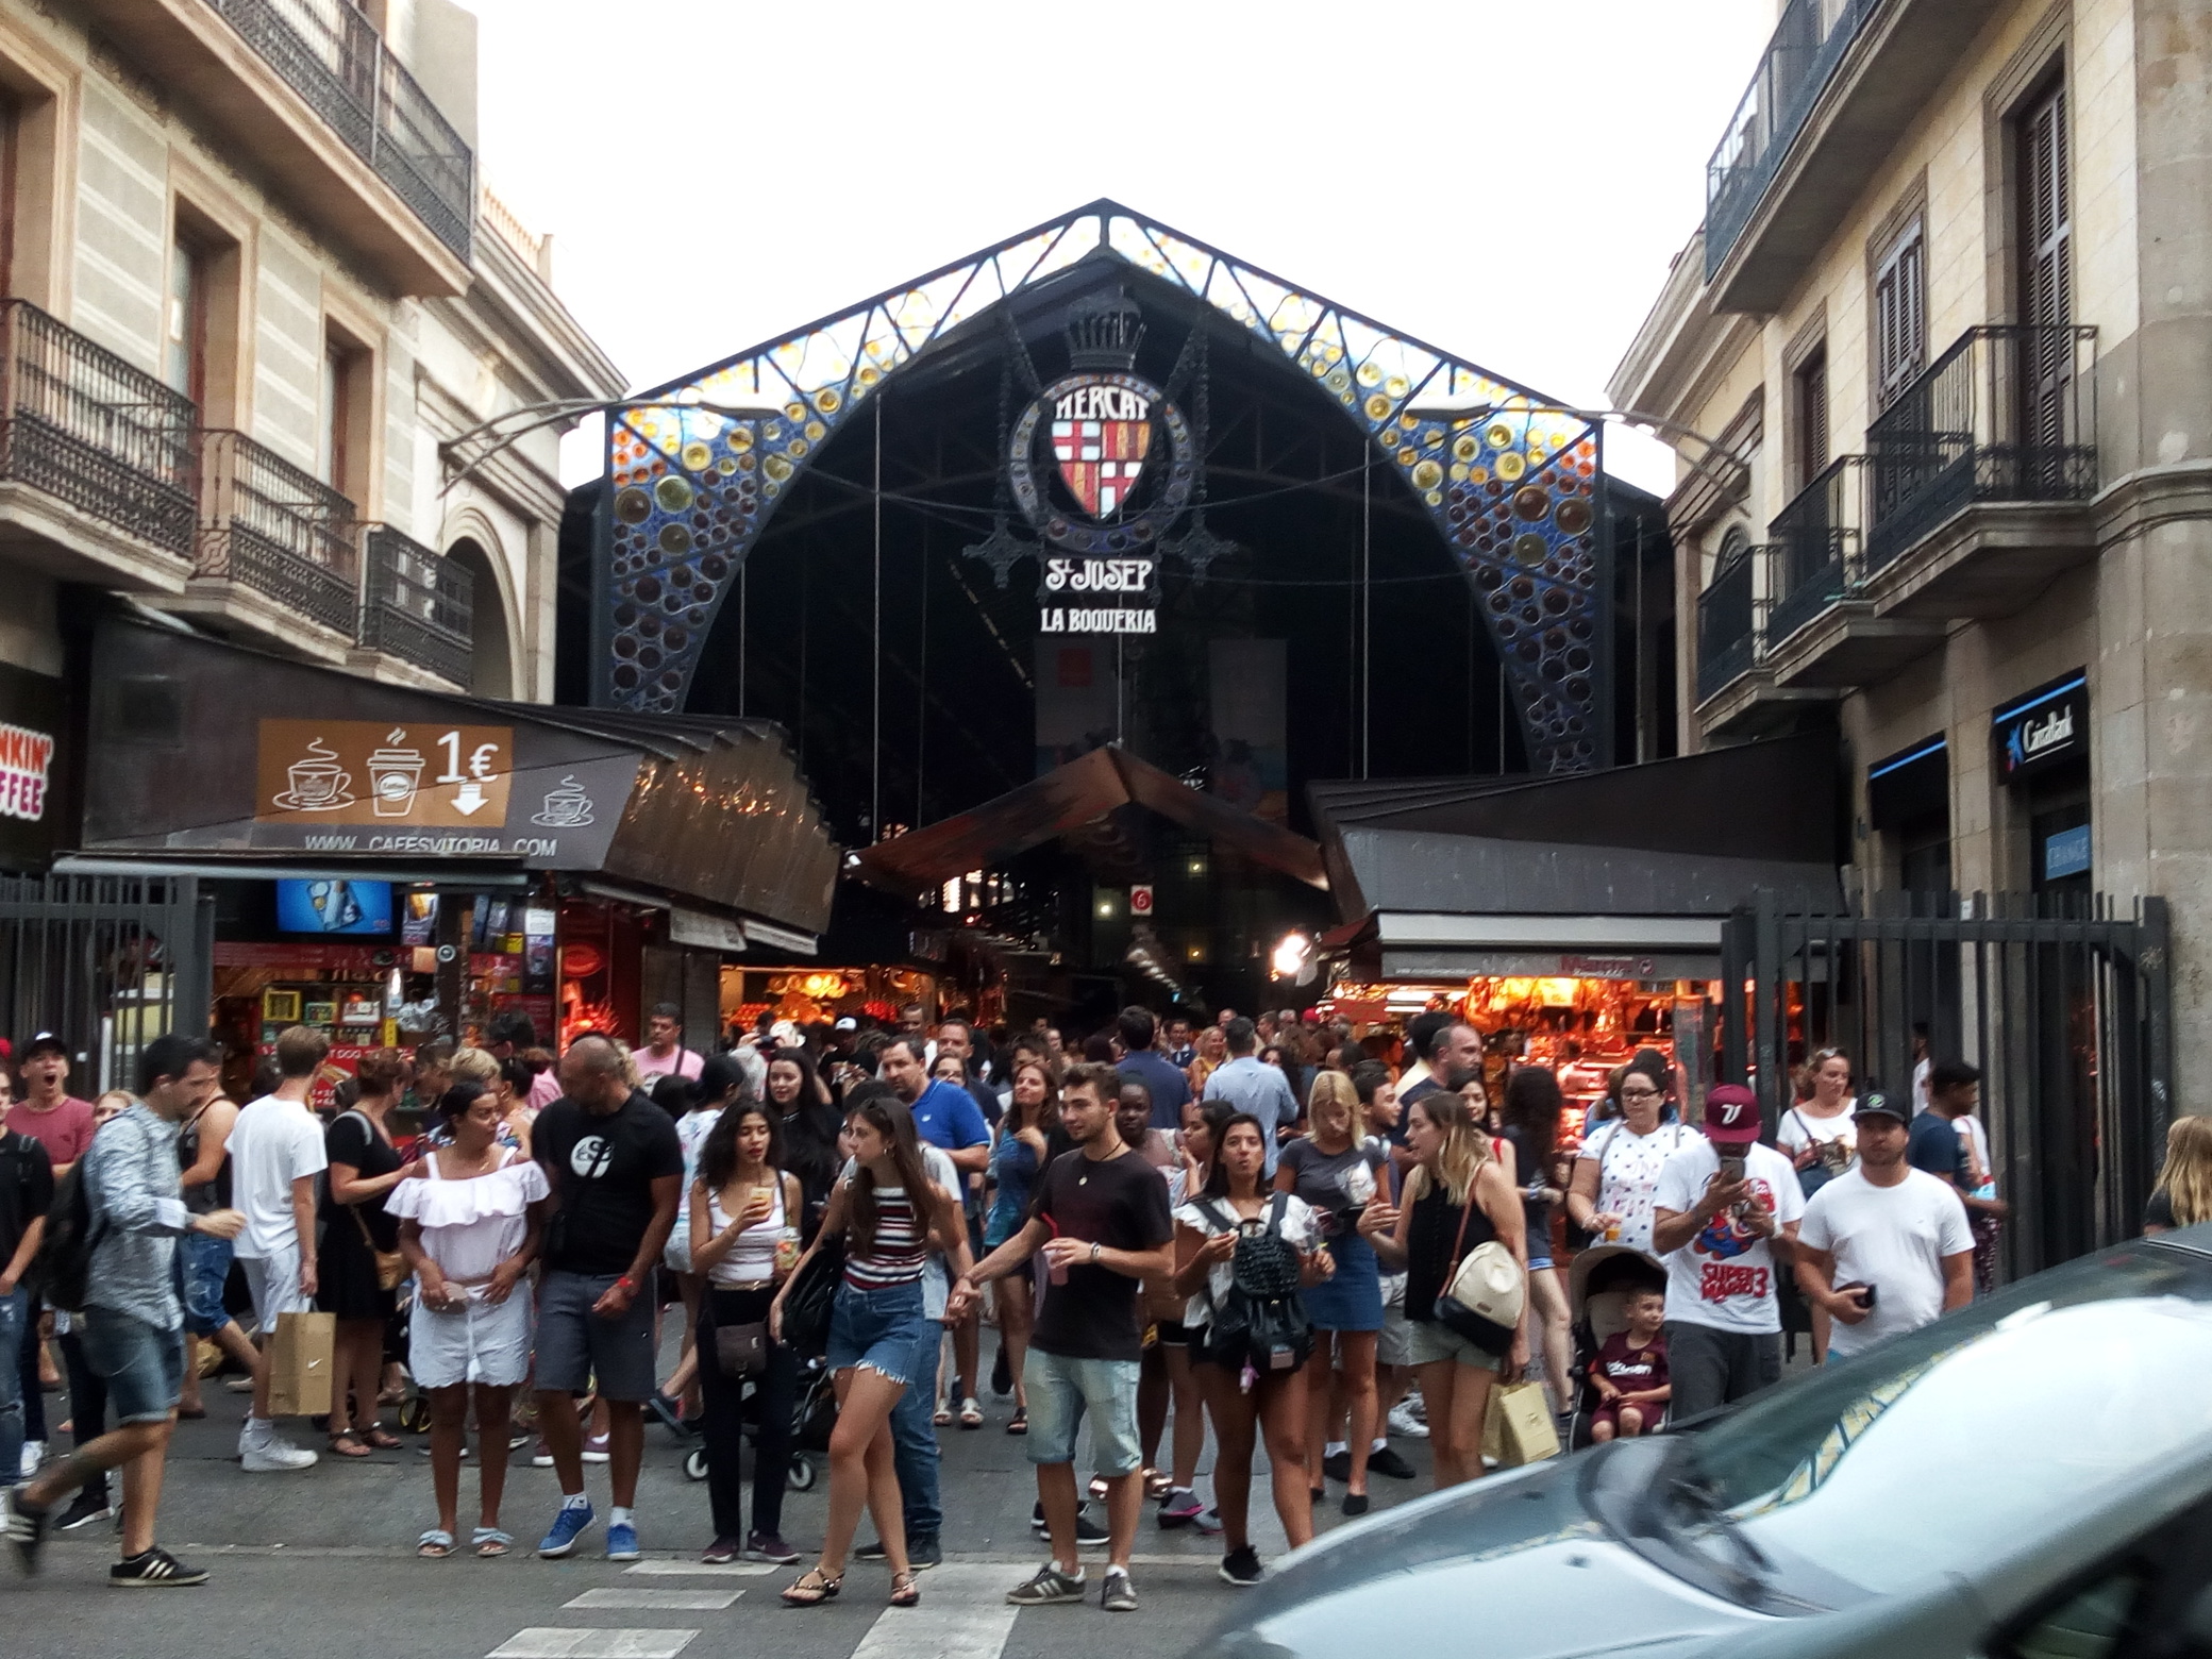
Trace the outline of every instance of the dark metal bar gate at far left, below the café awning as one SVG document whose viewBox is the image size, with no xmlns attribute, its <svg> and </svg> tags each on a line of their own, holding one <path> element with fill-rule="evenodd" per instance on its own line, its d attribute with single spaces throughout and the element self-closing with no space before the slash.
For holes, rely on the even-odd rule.
<svg viewBox="0 0 2212 1659">
<path fill-rule="evenodd" d="M 131 1088 L 164 1031 L 208 1031 L 215 896 L 192 876 L 0 876 L 0 1018 L 53 1031 L 69 1091 Z"/>
</svg>

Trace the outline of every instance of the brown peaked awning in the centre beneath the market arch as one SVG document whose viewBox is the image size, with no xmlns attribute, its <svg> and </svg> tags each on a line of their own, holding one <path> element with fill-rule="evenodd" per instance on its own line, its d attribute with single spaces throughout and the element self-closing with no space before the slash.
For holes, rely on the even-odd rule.
<svg viewBox="0 0 2212 1659">
<path fill-rule="evenodd" d="M 980 807 L 878 841 L 860 854 L 860 874 L 880 887 L 911 894 L 971 869 L 1002 865 L 1130 803 L 1234 847 L 1307 887 L 1329 885 L 1321 847 L 1305 836 L 1201 794 L 1172 772 L 1161 772 L 1115 745 L 1091 750 Z"/>
</svg>

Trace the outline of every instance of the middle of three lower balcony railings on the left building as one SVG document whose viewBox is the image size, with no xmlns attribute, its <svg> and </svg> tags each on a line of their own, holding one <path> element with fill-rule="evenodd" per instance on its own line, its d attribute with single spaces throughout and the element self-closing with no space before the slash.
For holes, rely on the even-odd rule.
<svg viewBox="0 0 2212 1659">
<path fill-rule="evenodd" d="M 210 431 L 195 573 L 248 586 L 352 637 L 361 608 L 354 504 L 243 431 Z"/>
</svg>

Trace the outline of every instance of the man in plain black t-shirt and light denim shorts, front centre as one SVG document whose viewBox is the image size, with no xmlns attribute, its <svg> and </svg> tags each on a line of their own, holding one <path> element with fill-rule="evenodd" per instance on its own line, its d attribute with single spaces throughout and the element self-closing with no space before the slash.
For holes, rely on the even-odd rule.
<svg viewBox="0 0 2212 1659">
<path fill-rule="evenodd" d="M 1053 1559 L 1006 1595 L 1015 1606 L 1079 1601 L 1075 1555 L 1075 1431 L 1091 1413 L 1097 1469 L 1108 1480 L 1108 1562 L 1099 1606 L 1128 1613 L 1137 1593 L 1128 1555 L 1144 1504 L 1137 1440 L 1137 1369 L 1144 1354 L 1139 1287 L 1175 1265 L 1168 1183 L 1115 1133 L 1119 1079 L 1113 1066 L 1068 1071 L 1060 1124 L 1075 1141 L 1037 1179 L 1029 1223 L 953 1285 L 947 1316 L 975 1303 L 982 1285 L 1033 1254 L 1051 1267 L 1035 1334 L 1022 1365 L 1029 1396 L 1029 1460 L 1053 1540 Z"/>
</svg>

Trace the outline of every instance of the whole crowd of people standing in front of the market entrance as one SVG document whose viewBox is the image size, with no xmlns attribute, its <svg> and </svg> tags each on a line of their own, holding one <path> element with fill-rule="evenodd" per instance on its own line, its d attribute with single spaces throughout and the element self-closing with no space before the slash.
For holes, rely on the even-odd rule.
<svg viewBox="0 0 2212 1659">
<path fill-rule="evenodd" d="M 150 1042 L 135 1091 L 102 1102 L 69 1095 L 64 1044 L 29 1042 L 20 1099 L 0 1068 L 0 1354 L 20 1356 L 0 1371 L 0 1469 L 22 1473 L 4 1502 L 20 1557 L 115 1517 L 115 1582 L 201 1582 L 155 1537 L 161 1460 L 177 1418 L 206 1413 L 201 1374 L 230 1369 L 252 1396 L 246 1473 L 389 1449 L 385 1407 L 418 1396 L 431 1559 L 520 1548 L 502 1500 L 524 1447 L 560 1484 L 535 1553 L 571 1555 L 599 1524 L 604 1464 L 604 1553 L 637 1559 L 657 1418 L 703 1447 L 703 1559 L 796 1566 L 787 1478 L 823 1436 L 823 1540 L 783 1599 L 818 1606 L 883 1562 L 911 1606 L 945 1555 L 940 1431 L 987 1427 L 995 1396 L 1048 1546 L 1009 1599 L 1095 1582 L 1128 1610 L 1146 1506 L 1217 1535 L 1228 1584 L 1263 1577 L 1261 1442 L 1298 1546 L 1332 1484 L 1363 1515 L 1371 1478 L 1416 1478 L 1394 1436 L 1429 1442 L 1436 1486 L 1478 1480 L 1500 1380 L 1540 1376 L 1562 1440 L 1652 1433 L 1776 1383 L 1785 1323 L 1825 1360 L 1964 1305 L 2004 1217 L 1962 1062 L 1893 1095 L 1823 1048 L 1767 1124 L 1741 1086 L 1686 1115 L 1655 1048 L 1575 1110 L 1546 1068 L 1486 1071 L 1449 1013 L 1383 1053 L 1312 1015 L 1194 1031 L 1144 1009 L 1075 1046 L 1042 1024 L 929 1029 L 920 1009 L 896 1031 L 763 1020 L 701 1055 L 661 1006 L 646 1037 L 582 1035 L 555 1064 L 502 1020 L 482 1046 L 372 1053 L 321 1110 L 327 1040 L 305 1026 L 230 1091 L 243 1106 L 186 1035 Z M 2201 1130 L 2174 1126 L 2152 1225 L 2212 1214 Z M 1575 1254 L 1590 1272 L 1571 1281 Z M 1577 1283 L 1610 1296 L 1608 1329 Z M 321 1453 L 272 1409 L 268 1338 L 307 1310 L 336 1332 Z M 49 1455 L 55 1352 L 73 1447 Z M 1106 1551 L 1097 1575 L 1086 1548 Z"/>
</svg>

